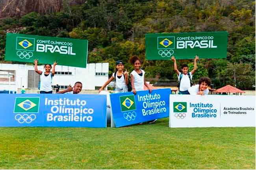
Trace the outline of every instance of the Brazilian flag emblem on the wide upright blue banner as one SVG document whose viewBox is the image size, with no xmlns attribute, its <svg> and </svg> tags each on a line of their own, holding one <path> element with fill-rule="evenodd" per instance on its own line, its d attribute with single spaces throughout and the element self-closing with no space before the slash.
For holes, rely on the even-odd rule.
<svg viewBox="0 0 256 170">
<path fill-rule="evenodd" d="M 38 113 L 40 98 L 16 98 L 14 113 Z"/>
</svg>

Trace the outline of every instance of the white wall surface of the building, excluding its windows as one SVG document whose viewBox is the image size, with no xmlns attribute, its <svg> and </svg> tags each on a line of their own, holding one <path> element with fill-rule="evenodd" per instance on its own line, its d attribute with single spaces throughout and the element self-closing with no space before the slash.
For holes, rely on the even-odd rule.
<svg viewBox="0 0 256 170">
<path fill-rule="evenodd" d="M 52 85 L 69 85 L 72 86 L 76 81 L 83 84 L 83 90 L 95 90 L 95 86 L 102 86 L 107 80 L 108 75 L 96 76 L 95 72 L 107 72 L 108 63 L 89 63 L 87 68 L 69 67 L 56 65 L 56 72 L 72 72 L 72 75 L 56 74 L 52 79 Z M 39 65 L 38 69 L 43 71 L 43 65 Z M 15 81 L 9 82 L 0 81 L 0 90 L 17 90 L 17 88 L 28 88 L 28 70 L 34 70 L 33 65 L 22 64 L 0 64 L 0 70 L 15 70 Z"/>
</svg>

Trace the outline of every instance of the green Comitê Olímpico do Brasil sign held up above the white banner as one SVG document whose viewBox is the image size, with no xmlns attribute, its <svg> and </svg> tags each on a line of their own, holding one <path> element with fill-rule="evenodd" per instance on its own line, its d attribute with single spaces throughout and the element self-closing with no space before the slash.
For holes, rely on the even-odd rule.
<svg viewBox="0 0 256 170">
<path fill-rule="evenodd" d="M 146 34 L 146 59 L 226 58 L 228 32 Z"/>
</svg>

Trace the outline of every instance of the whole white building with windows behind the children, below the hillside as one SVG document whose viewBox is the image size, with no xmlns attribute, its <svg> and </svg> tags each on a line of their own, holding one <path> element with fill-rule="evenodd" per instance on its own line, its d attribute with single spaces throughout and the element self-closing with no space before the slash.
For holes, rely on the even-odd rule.
<svg viewBox="0 0 256 170">
<path fill-rule="evenodd" d="M 43 65 L 38 69 L 44 71 Z M 39 74 L 33 65 L 0 63 L 0 90 L 17 91 L 18 88 L 37 88 Z M 83 84 L 83 90 L 97 90 L 108 80 L 108 63 L 89 63 L 86 68 L 56 65 L 52 85 L 61 89 L 74 85 L 76 81 Z"/>
</svg>

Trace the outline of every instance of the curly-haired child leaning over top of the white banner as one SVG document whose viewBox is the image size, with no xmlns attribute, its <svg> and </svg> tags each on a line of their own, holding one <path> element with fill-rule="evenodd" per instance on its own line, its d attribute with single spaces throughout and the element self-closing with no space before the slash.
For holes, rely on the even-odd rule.
<svg viewBox="0 0 256 170">
<path fill-rule="evenodd" d="M 207 95 L 209 93 L 208 86 L 211 85 L 211 80 L 208 77 L 200 78 L 197 85 L 189 87 L 188 91 L 189 94 L 200 94 L 200 95 Z"/>
</svg>

